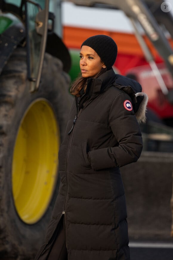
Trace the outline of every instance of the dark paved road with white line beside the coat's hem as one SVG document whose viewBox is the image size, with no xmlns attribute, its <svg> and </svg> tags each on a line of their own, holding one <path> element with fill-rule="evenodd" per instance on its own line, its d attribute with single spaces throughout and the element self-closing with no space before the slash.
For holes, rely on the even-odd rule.
<svg viewBox="0 0 173 260">
<path fill-rule="evenodd" d="M 173 243 L 130 242 L 131 260 L 173 260 Z"/>
</svg>

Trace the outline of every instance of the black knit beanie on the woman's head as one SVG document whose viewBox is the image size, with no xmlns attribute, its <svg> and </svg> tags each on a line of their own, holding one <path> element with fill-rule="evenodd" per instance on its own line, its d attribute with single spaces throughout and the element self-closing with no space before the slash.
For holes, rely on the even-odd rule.
<svg viewBox="0 0 173 260">
<path fill-rule="evenodd" d="M 86 39 L 82 45 L 89 46 L 106 65 L 107 70 L 111 69 L 117 57 L 117 45 L 114 40 L 107 35 L 95 35 Z"/>
</svg>

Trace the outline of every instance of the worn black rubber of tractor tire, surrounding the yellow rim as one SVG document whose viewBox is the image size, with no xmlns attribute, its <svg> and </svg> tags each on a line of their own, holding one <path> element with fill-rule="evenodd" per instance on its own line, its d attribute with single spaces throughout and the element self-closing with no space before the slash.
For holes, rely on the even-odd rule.
<svg viewBox="0 0 173 260">
<path fill-rule="evenodd" d="M 42 88 L 44 85 L 47 87 L 44 87 L 43 91 Z M 11 214 L 10 210 L 13 206 L 11 206 L 10 202 L 8 205 L 8 201 L 10 200 L 8 198 L 10 196 L 8 189 L 10 186 L 9 183 L 11 182 L 11 175 L 6 168 L 10 163 L 8 160 L 11 158 L 11 149 L 13 148 L 13 146 L 10 147 L 10 142 L 13 142 L 15 138 L 13 128 L 16 127 L 18 123 L 16 121 L 19 120 L 17 119 L 15 121 L 15 118 L 18 111 L 21 113 L 20 107 L 24 106 L 25 102 L 23 99 L 26 97 L 26 102 L 30 102 L 37 97 L 42 97 L 42 95 L 47 97 L 48 100 L 52 99 L 57 120 L 61 122 L 61 139 L 63 138 L 66 127 L 67 116 L 71 105 L 70 98 L 67 95 L 69 76 L 63 72 L 61 61 L 52 57 L 50 54 L 45 54 L 39 88 L 38 92 L 30 93 L 29 81 L 27 80 L 26 50 L 24 48 L 17 48 L 0 75 L 0 259 L 2 260 L 33 259 L 33 256 L 39 249 L 38 245 L 41 244 L 41 241 L 38 241 L 38 245 L 34 245 L 31 240 L 37 235 L 37 229 L 37 233 L 39 233 L 39 230 L 42 230 L 43 227 L 45 229 L 45 223 L 48 223 L 51 215 L 47 213 L 44 217 L 44 223 L 40 221 L 34 224 L 33 227 L 30 227 L 30 229 L 33 229 L 33 235 L 29 235 L 30 231 L 28 231 L 29 229 L 27 229 L 28 227 L 26 225 L 26 232 L 28 233 L 24 234 L 24 231 L 21 232 L 21 237 L 17 234 L 21 231 L 21 227 L 15 226 L 15 223 L 13 223 L 18 217 L 17 214 L 16 216 L 12 214 L 12 216 L 9 217 L 9 214 Z M 52 93 L 49 88 L 54 93 Z M 57 96 L 55 96 L 55 93 Z M 60 102 L 57 102 L 57 100 L 62 100 L 61 104 L 58 104 Z M 50 211 L 52 207 L 53 204 Z M 20 220 L 16 222 L 19 223 Z M 20 225 L 25 228 L 22 221 Z M 44 238 L 44 233 L 45 231 L 43 235 L 40 233 L 40 238 Z M 28 240 L 28 242 L 26 240 Z M 26 244 L 28 244 L 28 248 Z M 35 242 L 35 244 L 37 243 Z"/>
</svg>

